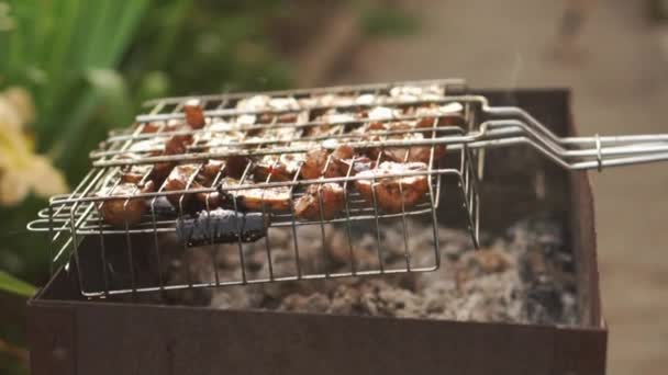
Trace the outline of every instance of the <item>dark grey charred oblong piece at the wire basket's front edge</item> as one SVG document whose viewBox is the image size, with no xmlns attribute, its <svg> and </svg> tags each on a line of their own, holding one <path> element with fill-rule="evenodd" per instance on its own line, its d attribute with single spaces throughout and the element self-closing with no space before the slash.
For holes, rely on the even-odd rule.
<svg viewBox="0 0 668 375">
<path fill-rule="evenodd" d="M 202 211 L 194 218 L 177 220 L 178 238 L 190 247 L 210 243 L 253 242 L 267 232 L 268 223 L 260 213 L 237 213 L 216 208 Z M 241 229 L 241 230 L 240 230 Z"/>
</svg>

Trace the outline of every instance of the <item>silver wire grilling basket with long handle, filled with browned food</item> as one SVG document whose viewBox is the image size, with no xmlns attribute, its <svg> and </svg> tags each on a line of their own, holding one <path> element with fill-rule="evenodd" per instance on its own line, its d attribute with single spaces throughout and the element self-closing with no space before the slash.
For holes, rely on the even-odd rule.
<svg viewBox="0 0 668 375">
<path fill-rule="evenodd" d="M 30 229 L 48 235 L 54 264 L 67 262 L 71 255 L 74 265 L 80 268 L 80 241 L 87 236 L 99 237 L 102 266 L 94 272 L 79 270 L 80 289 L 87 297 L 434 271 L 439 266 L 436 212 L 442 204 L 441 194 L 457 197 L 448 209 L 461 212 L 472 243 L 479 246 L 479 185 L 483 181 L 487 149 L 527 144 L 570 170 L 600 171 L 605 167 L 668 159 L 668 135 L 560 138 L 520 107 L 491 106 L 485 96 L 467 94 L 461 80 L 170 98 L 148 102 L 147 106 L 148 112 L 137 116 L 135 126 L 110 134 L 100 148 L 90 154 L 92 169 L 73 193 L 53 197 L 48 207 L 40 212 L 40 218 L 29 225 Z M 198 126 L 182 126 L 193 121 Z M 413 125 L 374 128 L 376 124 Z M 427 126 L 420 126 L 424 124 Z M 160 154 L 167 139 L 176 139 L 174 137 L 191 137 L 192 140 L 177 152 Z M 336 162 L 333 154 L 329 154 L 324 166 L 319 166 L 323 171 L 320 177 L 304 177 L 301 169 L 305 169 L 304 155 L 308 151 L 322 148 L 323 152 L 331 152 L 341 145 L 354 150 L 375 150 L 367 155 L 375 156 L 370 162 L 376 168 L 382 166 L 388 155 L 399 154 L 403 160 L 396 161 L 407 163 L 420 152 L 424 166 L 414 170 L 391 169 L 380 175 L 355 174 L 353 157 L 353 161 L 339 174 L 327 175 L 325 171 Z M 403 150 L 403 154 L 397 150 Z M 442 156 L 443 150 L 446 157 Z M 209 160 L 238 157 L 249 161 L 237 172 L 241 177 L 234 183 L 225 180 L 225 175 L 231 174 L 230 162 L 214 172 L 207 186 L 196 182 L 196 177 L 207 168 Z M 257 166 L 266 162 L 267 157 L 269 166 L 260 174 Z M 286 158 L 296 160 L 296 171 L 288 178 L 277 179 L 274 172 L 285 167 L 281 163 Z M 169 163 L 171 167 L 191 163 L 196 172 L 185 178 L 177 189 L 168 189 L 169 179 L 155 191 L 145 192 L 140 188 L 155 175 L 158 166 Z M 132 185 L 134 188 L 129 191 L 114 194 L 123 182 L 123 171 L 141 166 L 148 168 L 140 170 L 136 178 L 140 183 Z M 261 177 L 258 179 L 258 175 Z M 425 189 L 419 192 L 422 196 L 417 202 L 405 202 L 407 191 L 414 190 L 408 181 L 417 179 L 425 181 Z M 366 198 L 364 190 L 360 190 L 365 183 L 371 186 Z M 394 202 L 394 209 L 388 209 L 390 203 L 386 202 L 383 207 L 381 193 L 385 184 L 392 183 L 393 189 L 399 190 L 399 194 L 392 198 L 400 202 Z M 322 186 L 326 184 L 343 186 L 343 204 L 338 213 L 331 213 L 324 206 L 327 201 Z M 312 207 L 315 214 L 299 218 L 296 214 L 299 203 L 294 202 L 302 197 L 305 200 L 310 186 L 316 189 L 312 190 L 315 193 L 311 193 L 318 205 Z M 389 191 L 390 188 L 387 189 Z M 255 214 L 242 213 L 250 192 L 254 192 L 253 196 L 259 205 L 255 205 Z M 272 209 L 267 197 L 276 192 L 285 193 L 286 209 L 282 212 Z M 186 202 L 193 194 L 205 196 L 200 213 L 194 216 L 186 208 Z M 227 196 L 226 207 L 230 211 L 225 217 L 219 217 L 220 212 L 211 207 L 212 194 Z M 167 215 L 162 213 L 165 204 L 160 204 L 160 200 L 164 198 L 170 200 L 174 206 L 168 207 L 172 212 Z M 133 209 L 133 204 L 142 202 L 146 202 L 148 209 L 137 223 L 130 223 L 125 218 L 114 226 L 105 220 L 102 213 L 104 206 L 119 202 L 125 212 Z M 245 208 L 247 211 L 248 207 Z M 421 264 L 412 260 L 409 246 L 411 234 L 408 219 L 413 216 L 426 217 L 434 229 L 433 257 L 428 262 L 423 257 Z M 383 262 L 380 237 L 383 224 L 392 220 L 402 224 L 405 261 L 401 266 L 394 264 L 389 268 Z M 358 268 L 359 255 L 354 249 L 354 232 L 358 223 L 372 227 L 377 238 L 378 262 L 366 269 Z M 338 272 L 329 272 L 326 268 L 303 270 L 297 236 L 298 228 L 302 226 L 320 227 L 323 249 L 329 230 L 345 230 L 349 249 L 348 266 Z M 255 232 L 250 234 L 250 227 L 255 228 Z M 294 268 L 283 274 L 277 274 L 272 268 L 270 236 L 265 236 L 266 231 L 279 230 L 293 234 Z M 140 283 L 133 264 L 135 253 L 151 251 L 151 257 L 159 263 L 164 251 L 160 236 L 167 234 L 178 235 L 178 246 L 185 251 L 192 246 L 236 242 L 241 272 L 235 277 L 223 280 L 216 271 L 214 280 L 205 283 L 189 281 L 165 285 L 159 275 Z M 105 236 L 124 236 L 124 253 L 118 249 L 107 249 Z M 152 237 L 153 241 L 148 242 L 153 243 L 146 243 L 142 236 Z M 246 242 L 250 240 L 265 241 L 268 261 L 265 273 L 247 271 L 244 257 L 248 247 Z M 138 250 L 140 243 L 152 249 Z M 116 259 L 125 258 L 123 263 L 127 266 L 124 271 L 108 259 L 110 252 L 114 252 L 111 257 Z M 215 270 L 213 254 L 211 264 Z M 88 277 L 94 279 L 93 282 L 89 282 Z M 102 283 L 99 283 L 100 277 Z"/>
</svg>

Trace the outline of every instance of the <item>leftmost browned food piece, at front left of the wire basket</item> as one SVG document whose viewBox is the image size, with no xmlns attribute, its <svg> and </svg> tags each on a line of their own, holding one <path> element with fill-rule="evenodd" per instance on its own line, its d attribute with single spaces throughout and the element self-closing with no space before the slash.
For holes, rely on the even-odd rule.
<svg viewBox="0 0 668 375">
<path fill-rule="evenodd" d="M 96 194 L 99 197 L 105 198 L 104 201 L 97 202 L 96 206 L 105 223 L 115 227 L 133 226 L 142 220 L 142 216 L 146 212 L 145 200 L 143 197 L 113 198 L 113 196 L 134 196 L 154 191 L 155 185 L 153 181 L 148 181 L 141 188 L 134 183 L 122 182 L 115 188 L 109 188 Z"/>
</svg>

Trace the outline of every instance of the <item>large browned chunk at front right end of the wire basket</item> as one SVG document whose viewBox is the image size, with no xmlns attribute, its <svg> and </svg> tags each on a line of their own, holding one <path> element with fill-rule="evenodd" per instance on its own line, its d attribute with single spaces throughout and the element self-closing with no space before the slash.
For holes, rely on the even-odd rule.
<svg viewBox="0 0 668 375">
<path fill-rule="evenodd" d="M 357 173 L 357 177 L 368 178 L 357 180 L 355 188 L 359 191 L 364 198 L 374 204 L 374 195 L 378 208 L 398 213 L 403 208 L 417 204 L 428 190 L 427 175 L 411 175 L 411 177 L 391 177 L 383 178 L 387 174 L 407 173 L 407 172 L 425 172 L 427 167 L 423 162 L 392 162 L 385 161 L 377 168 Z"/>
</svg>

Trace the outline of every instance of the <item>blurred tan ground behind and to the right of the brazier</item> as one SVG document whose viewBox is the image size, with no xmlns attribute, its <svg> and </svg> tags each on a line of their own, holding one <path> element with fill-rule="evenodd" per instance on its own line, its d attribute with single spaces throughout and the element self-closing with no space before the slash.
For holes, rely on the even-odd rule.
<svg viewBox="0 0 668 375">
<path fill-rule="evenodd" d="M 364 43 L 321 83 L 466 78 L 478 88 L 568 87 L 582 135 L 668 133 L 668 38 L 644 1 L 599 1 L 579 60 L 555 60 L 561 1 L 399 1 L 419 33 Z M 592 172 L 610 374 L 668 367 L 668 164 Z"/>
</svg>

